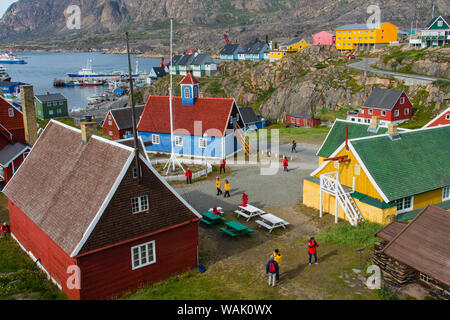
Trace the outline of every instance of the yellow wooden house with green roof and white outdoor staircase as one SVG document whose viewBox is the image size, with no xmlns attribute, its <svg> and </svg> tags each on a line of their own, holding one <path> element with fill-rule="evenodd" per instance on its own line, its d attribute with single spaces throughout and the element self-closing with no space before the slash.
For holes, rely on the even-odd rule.
<svg viewBox="0 0 450 320">
<path fill-rule="evenodd" d="M 372 125 L 371 130 L 377 130 Z M 352 225 L 450 207 L 450 125 L 344 141 L 303 181 L 303 204 Z M 379 130 L 379 128 L 378 128 Z"/>
</svg>

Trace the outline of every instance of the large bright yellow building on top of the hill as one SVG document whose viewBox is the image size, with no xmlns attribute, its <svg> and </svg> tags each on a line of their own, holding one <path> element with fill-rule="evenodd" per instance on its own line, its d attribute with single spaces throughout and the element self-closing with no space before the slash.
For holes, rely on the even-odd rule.
<svg viewBox="0 0 450 320">
<path fill-rule="evenodd" d="M 336 29 L 336 49 L 370 50 L 398 41 L 398 27 L 390 22 L 376 25 L 348 24 Z"/>
</svg>

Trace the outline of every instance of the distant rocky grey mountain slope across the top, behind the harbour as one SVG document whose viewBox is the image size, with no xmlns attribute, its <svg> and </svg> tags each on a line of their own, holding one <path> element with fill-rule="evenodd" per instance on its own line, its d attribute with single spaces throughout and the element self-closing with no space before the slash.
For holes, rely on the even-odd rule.
<svg viewBox="0 0 450 320">
<path fill-rule="evenodd" d="M 378 0 L 381 19 L 405 31 L 431 19 L 432 0 Z M 448 14 L 448 0 L 434 0 L 435 15 Z M 81 28 L 69 30 L 69 5 L 81 9 Z M 348 23 L 364 23 L 362 0 L 19 0 L 0 20 L 0 44 L 43 49 L 113 49 L 129 31 L 142 51 L 164 50 L 168 19 L 175 19 L 175 48 L 217 53 L 223 33 L 244 45 L 256 37 L 284 41 Z"/>
</svg>

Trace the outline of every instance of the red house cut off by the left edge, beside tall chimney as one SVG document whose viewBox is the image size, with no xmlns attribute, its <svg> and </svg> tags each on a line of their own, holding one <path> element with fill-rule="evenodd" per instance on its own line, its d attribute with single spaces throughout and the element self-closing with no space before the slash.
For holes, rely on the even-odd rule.
<svg viewBox="0 0 450 320">
<path fill-rule="evenodd" d="M 28 93 L 33 95 L 33 92 Z M 34 97 L 31 97 L 34 100 Z M 23 106 L 25 110 L 26 106 Z M 30 109 L 30 106 L 28 106 Z M 31 112 L 34 115 L 34 103 L 31 105 Z M 35 118 L 28 117 L 30 122 L 30 129 L 28 132 L 34 130 L 36 135 L 36 120 Z M 33 128 L 34 126 L 34 128 Z M 9 102 L 4 100 L 0 96 L 0 178 L 3 183 L 6 184 L 12 178 L 16 170 L 22 164 L 23 160 L 27 156 L 34 141 L 27 142 L 25 133 L 25 123 L 22 111 Z M 31 139 L 33 140 L 33 139 Z"/>
</svg>

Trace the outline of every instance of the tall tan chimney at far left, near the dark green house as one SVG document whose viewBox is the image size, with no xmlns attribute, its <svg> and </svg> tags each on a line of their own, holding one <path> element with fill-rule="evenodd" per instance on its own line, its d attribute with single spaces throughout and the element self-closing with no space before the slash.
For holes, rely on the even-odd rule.
<svg viewBox="0 0 450 320">
<path fill-rule="evenodd" d="M 33 86 L 20 86 L 22 98 L 23 124 L 25 126 L 25 141 L 33 146 L 37 140 L 36 110 L 34 108 Z"/>
</svg>

